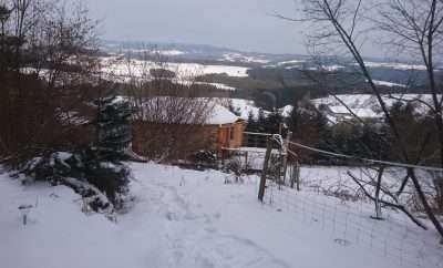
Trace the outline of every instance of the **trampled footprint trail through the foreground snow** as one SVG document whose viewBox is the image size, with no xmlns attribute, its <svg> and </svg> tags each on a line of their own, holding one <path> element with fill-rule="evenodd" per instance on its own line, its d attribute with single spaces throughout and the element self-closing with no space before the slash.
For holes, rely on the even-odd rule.
<svg viewBox="0 0 443 268">
<path fill-rule="evenodd" d="M 177 187 L 153 179 L 135 183 L 150 196 L 137 206 L 155 206 L 166 219 L 168 267 L 289 267 L 247 238 L 222 234 L 214 225 L 220 215 L 199 210 L 203 205 L 189 203 Z"/>
</svg>

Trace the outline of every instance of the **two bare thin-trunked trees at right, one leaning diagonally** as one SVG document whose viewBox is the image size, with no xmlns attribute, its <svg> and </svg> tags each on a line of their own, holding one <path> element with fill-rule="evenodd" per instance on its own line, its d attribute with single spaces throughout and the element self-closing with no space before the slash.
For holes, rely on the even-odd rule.
<svg viewBox="0 0 443 268">
<path fill-rule="evenodd" d="M 418 6 L 421 6 L 420 10 L 423 12 L 413 12 L 415 11 L 414 6 L 404 6 L 406 2 L 414 2 Z M 393 137 L 400 144 L 399 150 L 401 159 L 409 164 L 416 164 L 420 162 L 420 159 L 414 161 L 406 151 L 403 137 L 404 134 L 400 132 L 399 125 L 392 118 L 389 106 L 382 97 L 380 87 L 374 83 L 361 51 L 370 35 L 373 34 L 373 32 L 369 30 L 374 29 L 375 27 L 383 31 L 396 33 L 399 38 L 406 40 L 411 39 L 409 40 L 411 43 L 418 44 L 418 53 L 422 55 L 422 60 L 426 65 L 429 73 L 430 90 L 434 95 L 433 105 L 435 126 L 439 128 L 439 135 L 441 135 L 443 133 L 440 131 L 443 130 L 441 116 L 442 101 L 441 99 L 437 99 L 439 91 L 435 83 L 435 64 L 433 61 L 433 54 L 435 45 L 440 43 L 439 38 L 436 37 L 441 32 L 440 27 L 442 21 L 440 17 L 442 12 L 440 6 L 443 3 L 437 0 L 392 0 L 388 7 L 384 4 L 373 3 L 370 7 L 367 7 L 364 6 L 365 2 L 362 0 L 302 0 L 302 17 L 300 19 L 281 18 L 309 23 L 311 27 L 311 35 L 309 35 L 310 44 L 336 48 L 336 51 L 344 51 L 351 55 L 356 65 L 359 68 L 361 75 L 367 80 L 370 91 L 375 95 Z M 380 11 L 380 13 L 374 14 L 374 10 Z M 426 10 L 427 12 L 424 12 Z M 423 17 L 423 14 L 425 16 Z M 368 21 L 374 21 L 369 20 L 368 18 L 370 17 L 375 18 L 379 23 L 368 23 Z M 379 20 L 379 18 L 381 19 Z M 363 20 L 365 21 L 364 23 L 362 23 Z M 443 141 L 443 136 L 441 137 L 441 141 Z M 443 161 L 442 142 L 440 143 L 439 150 L 442 152 L 441 161 Z M 409 176 L 405 177 L 404 184 L 408 183 L 408 179 L 412 179 L 426 215 L 443 238 L 442 225 L 434 215 L 416 174 L 413 169 L 408 173 Z M 401 192 L 399 193 L 401 194 Z"/>
</svg>

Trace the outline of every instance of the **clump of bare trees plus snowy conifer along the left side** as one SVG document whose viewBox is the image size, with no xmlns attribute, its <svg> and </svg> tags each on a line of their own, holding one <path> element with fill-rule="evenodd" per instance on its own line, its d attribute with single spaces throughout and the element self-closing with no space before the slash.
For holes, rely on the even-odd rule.
<svg viewBox="0 0 443 268">
<path fill-rule="evenodd" d="M 101 79 L 97 23 L 80 2 L 0 2 L 0 163 L 72 187 L 110 215 L 130 172 L 133 109 Z"/>
</svg>

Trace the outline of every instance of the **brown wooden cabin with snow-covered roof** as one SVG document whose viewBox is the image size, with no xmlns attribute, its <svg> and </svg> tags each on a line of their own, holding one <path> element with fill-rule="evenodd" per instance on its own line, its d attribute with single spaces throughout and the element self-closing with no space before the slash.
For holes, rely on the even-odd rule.
<svg viewBox="0 0 443 268">
<path fill-rule="evenodd" d="M 187 109 L 188 114 L 184 116 L 175 111 L 174 106 L 179 106 L 182 101 L 171 97 L 154 97 L 146 101 L 144 118 L 133 122 L 133 148 L 136 153 L 145 156 L 158 155 L 166 144 L 176 148 L 175 157 L 185 158 L 186 155 L 202 150 L 219 154 L 227 148 L 241 147 L 245 128 L 243 118 L 227 107 L 214 103 L 207 105 L 210 107 L 210 114 L 206 116 L 205 122 L 195 121 L 192 117 L 200 113 L 199 111 Z"/>
</svg>

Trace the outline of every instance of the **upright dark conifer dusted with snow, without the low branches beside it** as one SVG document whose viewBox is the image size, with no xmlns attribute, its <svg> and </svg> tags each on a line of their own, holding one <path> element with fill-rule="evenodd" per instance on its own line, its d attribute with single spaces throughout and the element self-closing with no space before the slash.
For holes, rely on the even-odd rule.
<svg viewBox="0 0 443 268">
<path fill-rule="evenodd" d="M 94 102 L 96 141 L 83 155 L 84 176 L 103 190 L 119 208 L 127 192 L 130 168 L 123 163 L 130 157 L 132 131 L 128 117 L 134 110 L 122 97 L 110 96 Z"/>
</svg>

